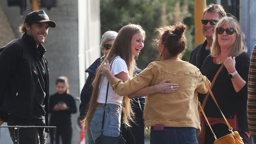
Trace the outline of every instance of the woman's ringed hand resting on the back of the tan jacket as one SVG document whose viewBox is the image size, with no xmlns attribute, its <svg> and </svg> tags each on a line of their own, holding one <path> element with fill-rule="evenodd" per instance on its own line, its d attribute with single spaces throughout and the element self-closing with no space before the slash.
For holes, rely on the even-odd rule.
<svg viewBox="0 0 256 144">
<path fill-rule="evenodd" d="M 178 90 L 179 85 L 176 83 L 167 83 L 169 81 L 171 81 L 171 79 L 164 79 L 160 83 L 158 83 L 158 85 L 155 85 L 154 88 L 155 88 L 156 92 L 161 92 L 163 94 L 169 94 L 169 93 L 173 93 L 176 90 Z"/>
</svg>

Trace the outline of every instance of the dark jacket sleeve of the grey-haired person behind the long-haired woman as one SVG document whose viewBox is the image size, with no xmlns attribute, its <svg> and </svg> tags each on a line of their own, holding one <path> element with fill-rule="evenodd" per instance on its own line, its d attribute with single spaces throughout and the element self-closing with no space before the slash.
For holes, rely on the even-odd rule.
<svg viewBox="0 0 256 144">
<path fill-rule="evenodd" d="M 83 89 L 80 94 L 80 105 L 79 105 L 79 112 L 80 112 L 80 120 L 82 120 L 85 117 L 85 113 L 87 111 L 87 107 L 89 105 L 89 102 L 91 100 L 91 94 L 93 92 L 93 87 L 91 83 L 93 82 L 94 76 L 89 74 L 88 78 L 86 79 L 86 82 L 83 86 Z"/>
</svg>

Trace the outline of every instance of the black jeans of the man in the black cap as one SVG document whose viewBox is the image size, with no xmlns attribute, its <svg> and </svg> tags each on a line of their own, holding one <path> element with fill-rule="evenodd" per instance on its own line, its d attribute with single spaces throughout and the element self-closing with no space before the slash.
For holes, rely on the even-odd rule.
<svg viewBox="0 0 256 144">
<path fill-rule="evenodd" d="M 10 116 L 8 126 L 45 126 L 45 120 L 34 119 L 32 121 Z M 8 128 L 13 144 L 44 144 L 45 128 Z M 18 133 L 19 132 L 19 133 Z"/>
</svg>

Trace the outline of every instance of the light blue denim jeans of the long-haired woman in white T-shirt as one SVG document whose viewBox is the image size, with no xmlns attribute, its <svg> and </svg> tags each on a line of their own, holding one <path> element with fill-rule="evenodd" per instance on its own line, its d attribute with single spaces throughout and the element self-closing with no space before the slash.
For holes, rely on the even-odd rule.
<svg viewBox="0 0 256 144">
<path fill-rule="evenodd" d="M 104 104 L 95 108 L 91 118 L 90 126 L 87 129 L 89 144 L 95 144 L 95 139 L 101 134 Z M 103 135 L 117 137 L 120 135 L 121 112 L 120 106 L 112 103 L 106 104 Z"/>
</svg>

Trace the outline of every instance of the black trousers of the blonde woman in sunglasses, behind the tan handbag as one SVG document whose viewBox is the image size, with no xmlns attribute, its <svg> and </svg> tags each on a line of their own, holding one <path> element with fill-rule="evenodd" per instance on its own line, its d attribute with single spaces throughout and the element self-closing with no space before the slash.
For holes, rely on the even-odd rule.
<svg viewBox="0 0 256 144">
<path fill-rule="evenodd" d="M 221 138 L 224 135 L 227 135 L 229 133 L 231 133 L 228 130 L 228 126 L 225 124 L 215 124 L 213 126 L 211 126 L 213 132 L 215 133 L 217 138 Z M 245 144 L 248 144 L 249 142 L 249 137 L 247 136 L 247 134 L 243 131 L 238 131 L 239 135 L 243 138 L 243 142 Z M 213 142 L 215 141 L 215 138 L 213 137 L 213 134 L 211 132 L 211 129 L 209 126 L 206 126 L 206 132 L 205 132 L 205 141 L 204 144 L 213 144 Z"/>
</svg>

